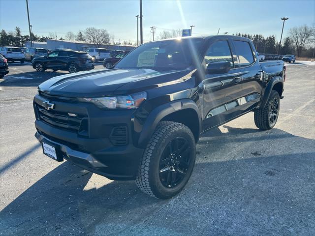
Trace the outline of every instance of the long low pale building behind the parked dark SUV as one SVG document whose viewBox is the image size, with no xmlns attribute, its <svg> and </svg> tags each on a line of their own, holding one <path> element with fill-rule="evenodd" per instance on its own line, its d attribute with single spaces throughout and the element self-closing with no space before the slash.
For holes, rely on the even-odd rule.
<svg viewBox="0 0 315 236">
<path fill-rule="evenodd" d="M 25 47 L 30 48 L 31 42 L 27 42 Z M 95 45 L 92 43 L 87 43 L 84 41 L 69 41 L 69 40 L 60 40 L 60 39 L 47 39 L 47 42 L 33 42 L 33 47 L 36 48 L 46 48 L 46 49 L 57 49 L 57 48 L 66 48 L 77 51 L 86 51 L 88 48 L 94 48 Z M 122 51 L 131 51 L 134 49 L 134 46 L 126 45 L 113 45 L 113 44 L 102 44 L 98 46 L 99 48 L 106 48 L 110 50 L 122 50 Z"/>
</svg>

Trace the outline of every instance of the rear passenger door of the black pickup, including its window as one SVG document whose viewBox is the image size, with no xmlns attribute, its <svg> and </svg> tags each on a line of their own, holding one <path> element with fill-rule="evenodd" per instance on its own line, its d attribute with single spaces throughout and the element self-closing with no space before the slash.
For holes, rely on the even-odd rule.
<svg viewBox="0 0 315 236">
<path fill-rule="evenodd" d="M 238 115 L 247 112 L 259 102 L 262 90 L 262 70 L 255 55 L 252 42 L 247 40 L 232 40 L 239 64 L 235 72 L 242 74 L 242 90 L 239 92 Z"/>
</svg>

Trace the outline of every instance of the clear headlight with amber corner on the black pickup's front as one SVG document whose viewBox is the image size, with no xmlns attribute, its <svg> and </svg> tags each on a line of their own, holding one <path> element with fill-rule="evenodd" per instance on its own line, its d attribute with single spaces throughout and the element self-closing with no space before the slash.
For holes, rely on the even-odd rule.
<svg viewBox="0 0 315 236">
<path fill-rule="evenodd" d="M 127 96 L 81 98 L 80 100 L 92 102 L 101 109 L 136 109 L 146 99 L 146 92 L 137 92 Z"/>
</svg>

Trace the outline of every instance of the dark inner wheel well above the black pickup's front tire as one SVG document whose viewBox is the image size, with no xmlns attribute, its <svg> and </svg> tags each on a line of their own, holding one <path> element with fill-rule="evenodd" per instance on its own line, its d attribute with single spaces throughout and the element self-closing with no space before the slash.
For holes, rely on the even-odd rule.
<svg viewBox="0 0 315 236">
<path fill-rule="evenodd" d="M 193 109 L 184 109 L 167 115 L 160 121 L 174 121 L 185 124 L 191 130 L 195 141 L 199 140 L 199 118 Z"/>
</svg>

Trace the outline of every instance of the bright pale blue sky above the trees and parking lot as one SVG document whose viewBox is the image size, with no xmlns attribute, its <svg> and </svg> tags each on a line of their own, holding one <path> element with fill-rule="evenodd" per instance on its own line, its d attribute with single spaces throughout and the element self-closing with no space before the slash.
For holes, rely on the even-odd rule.
<svg viewBox="0 0 315 236">
<path fill-rule="evenodd" d="M 119 39 L 136 41 L 139 0 L 29 0 L 33 33 L 48 36 L 57 32 L 58 38 L 67 31 L 95 27 L 107 29 Z M 261 33 L 274 34 L 280 39 L 282 21 L 284 37 L 294 26 L 315 22 L 315 0 L 143 0 L 144 41 L 152 38 L 150 27 L 156 26 L 156 35 L 168 29 L 189 29 L 192 35 Z M 0 29 L 14 31 L 21 28 L 28 34 L 25 0 L 0 0 Z"/>
</svg>

